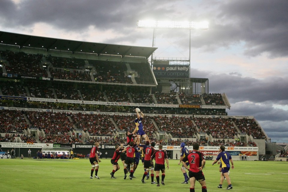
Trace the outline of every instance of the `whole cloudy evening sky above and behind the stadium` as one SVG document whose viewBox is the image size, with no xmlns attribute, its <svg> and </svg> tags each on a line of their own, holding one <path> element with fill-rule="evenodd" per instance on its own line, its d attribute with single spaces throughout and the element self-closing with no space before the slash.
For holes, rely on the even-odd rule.
<svg viewBox="0 0 288 192">
<path fill-rule="evenodd" d="M 288 143 L 287 0 L 1 0 L 0 31 L 152 46 L 137 20 L 208 21 L 191 31 L 191 77 L 226 93 L 229 115 L 251 115 Z M 189 31 L 158 29 L 156 57 L 189 58 Z"/>
</svg>

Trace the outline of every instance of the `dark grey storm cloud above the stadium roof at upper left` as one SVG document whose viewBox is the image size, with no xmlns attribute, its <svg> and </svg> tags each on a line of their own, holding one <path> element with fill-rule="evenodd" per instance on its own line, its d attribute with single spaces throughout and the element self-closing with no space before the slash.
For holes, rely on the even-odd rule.
<svg viewBox="0 0 288 192">
<path fill-rule="evenodd" d="M 147 1 L 149 2 L 149 1 Z M 0 16 L 7 27 L 32 26 L 44 22 L 66 30 L 85 30 L 92 25 L 100 30 L 124 30 L 136 28 L 141 7 L 147 10 L 146 1 L 95 1 L 95 0 L 49 0 L 49 1 L 0 1 Z M 161 10 L 158 10 L 161 13 Z M 149 9 L 144 13 L 149 13 Z M 7 22 L 5 22 L 5 20 Z"/>
</svg>

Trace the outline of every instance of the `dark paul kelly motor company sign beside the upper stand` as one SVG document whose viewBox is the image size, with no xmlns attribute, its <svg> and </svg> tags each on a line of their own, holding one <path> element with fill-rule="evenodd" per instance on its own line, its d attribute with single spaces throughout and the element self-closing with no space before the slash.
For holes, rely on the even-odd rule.
<svg viewBox="0 0 288 192">
<path fill-rule="evenodd" d="M 156 78 L 189 78 L 189 65 L 153 65 Z"/>
</svg>

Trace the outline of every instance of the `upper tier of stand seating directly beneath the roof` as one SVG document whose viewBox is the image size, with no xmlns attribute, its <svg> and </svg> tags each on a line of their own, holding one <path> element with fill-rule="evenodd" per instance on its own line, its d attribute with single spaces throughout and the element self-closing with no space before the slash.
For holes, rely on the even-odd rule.
<svg viewBox="0 0 288 192">
<path fill-rule="evenodd" d="M 49 77 L 57 80 L 156 85 L 148 62 L 131 63 L 67 58 L 0 50 L 3 73 L 13 77 Z"/>
</svg>

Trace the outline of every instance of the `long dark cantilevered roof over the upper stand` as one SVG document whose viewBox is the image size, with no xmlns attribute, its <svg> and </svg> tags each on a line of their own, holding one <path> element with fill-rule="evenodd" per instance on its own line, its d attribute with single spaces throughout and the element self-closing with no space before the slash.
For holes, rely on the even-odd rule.
<svg viewBox="0 0 288 192">
<path fill-rule="evenodd" d="M 151 54 L 157 49 L 156 47 L 113 45 L 106 43 L 93 43 L 49 37 L 38 37 L 4 31 L 0 31 L 0 43 L 5 45 L 19 46 L 20 48 L 32 47 L 46 49 L 46 51 L 53 49 L 68 51 L 72 53 L 82 52 L 98 55 L 121 55 L 122 57 L 131 56 L 145 58 L 149 58 Z"/>
</svg>

